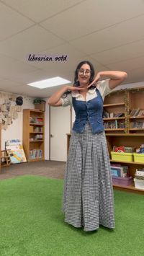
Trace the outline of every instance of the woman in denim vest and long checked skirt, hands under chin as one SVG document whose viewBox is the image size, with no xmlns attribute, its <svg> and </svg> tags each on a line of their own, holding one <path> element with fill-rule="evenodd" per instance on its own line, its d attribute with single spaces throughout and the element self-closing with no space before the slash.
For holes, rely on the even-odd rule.
<svg viewBox="0 0 144 256">
<path fill-rule="evenodd" d="M 107 77 L 106 80 L 102 80 Z M 125 80 L 121 71 L 102 71 L 82 61 L 74 86 L 64 86 L 48 100 L 51 106 L 73 105 L 76 120 L 71 133 L 63 190 L 65 221 L 84 231 L 99 225 L 114 229 L 114 202 L 109 154 L 102 120 L 104 97 Z M 66 97 L 64 97 L 64 95 Z"/>
</svg>

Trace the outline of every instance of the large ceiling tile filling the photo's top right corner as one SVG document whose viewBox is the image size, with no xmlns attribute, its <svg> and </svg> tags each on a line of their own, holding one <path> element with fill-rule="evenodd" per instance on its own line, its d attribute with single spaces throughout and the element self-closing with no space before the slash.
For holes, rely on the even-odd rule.
<svg viewBox="0 0 144 256">
<path fill-rule="evenodd" d="M 143 14 L 144 3 L 141 0 L 138 2 L 132 3 L 130 0 L 84 1 L 66 12 L 45 20 L 41 25 L 70 41 Z"/>
</svg>

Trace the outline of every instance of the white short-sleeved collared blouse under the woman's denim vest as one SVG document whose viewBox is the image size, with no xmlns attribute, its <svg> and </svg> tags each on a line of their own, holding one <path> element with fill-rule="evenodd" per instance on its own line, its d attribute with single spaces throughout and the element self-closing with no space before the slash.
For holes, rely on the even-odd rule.
<svg viewBox="0 0 144 256">
<path fill-rule="evenodd" d="M 96 84 L 96 88 L 99 89 L 100 94 L 102 95 L 102 99 L 104 100 L 104 97 L 112 92 L 112 89 L 109 88 L 109 79 L 98 81 Z M 74 91 L 69 93 L 66 98 L 60 98 L 62 102 L 62 106 L 66 107 L 68 105 L 72 106 L 72 97 L 76 97 L 76 100 L 84 100 L 84 97 L 78 93 L 78 91 Z M 96 89 L 89 89 L 88 92 L 86 92 L 86 102 L 89 100 L 94 99 L 94 97 L 97 97 Z"/>
</svg>

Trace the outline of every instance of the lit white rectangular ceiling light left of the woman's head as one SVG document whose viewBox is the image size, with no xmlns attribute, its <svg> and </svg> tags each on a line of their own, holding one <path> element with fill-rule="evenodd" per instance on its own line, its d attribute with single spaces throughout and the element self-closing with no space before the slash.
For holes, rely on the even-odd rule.
<svg viewBox="0 0 144 256">
<path fill-rule="evenodd" d="M 56 76 L 56 77 L 53 77 L 50 79 L 35 81 L 35 82 L 27 84 L 27 85 L 30 85 L 31 87 L 44 89 L 44 88 L 49 88 L 49 87 L 57 87 L 58 85 L 69 84 L 69 83 L 71 83 L 71 81 L 68 81 L 59 76 Z"/>
</svg>

